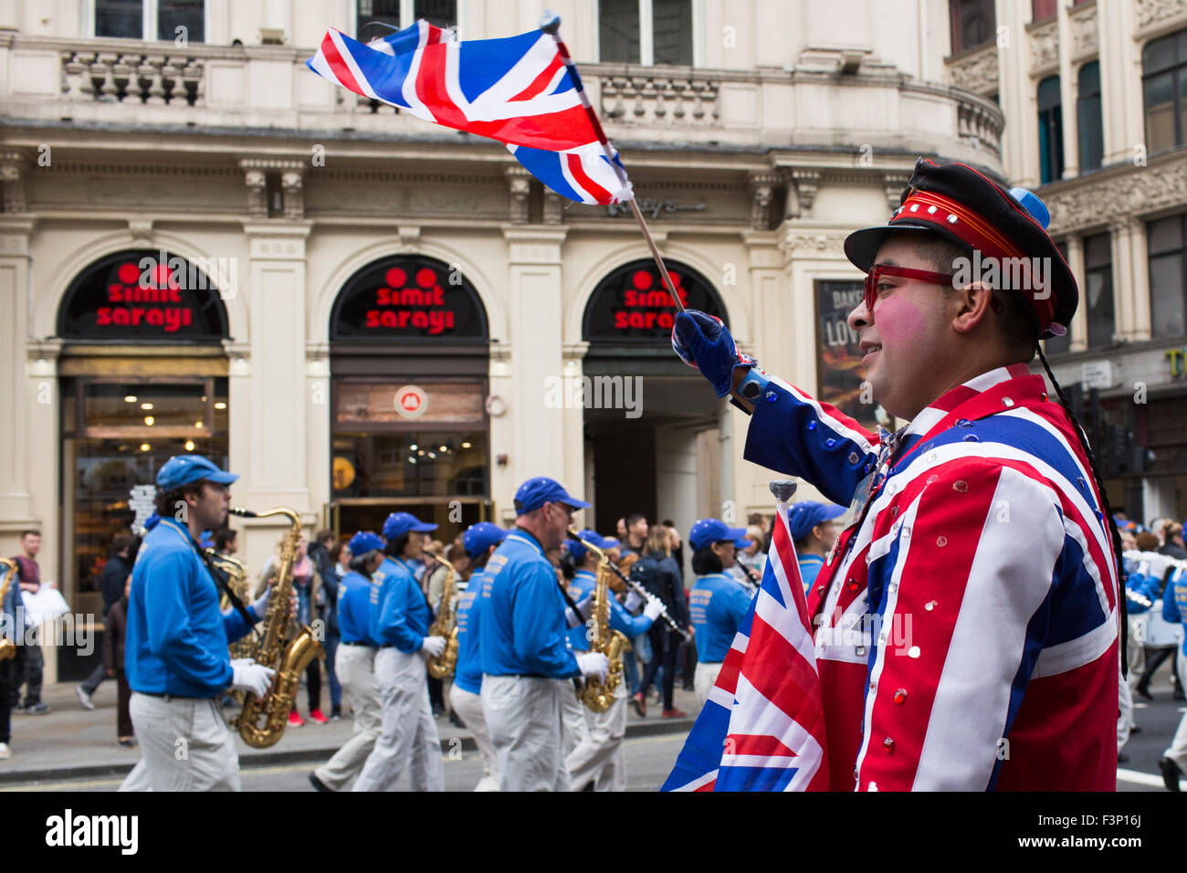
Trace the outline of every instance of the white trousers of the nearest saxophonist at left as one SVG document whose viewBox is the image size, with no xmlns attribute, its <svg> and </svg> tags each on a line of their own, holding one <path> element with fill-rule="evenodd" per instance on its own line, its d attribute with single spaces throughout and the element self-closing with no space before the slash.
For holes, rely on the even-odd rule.
<svg viewBox="0 0 1187 873">
<path fill-rule="evenodd" d="M 120 789 L 240 791 L 235 735 L 218 701 L 165 700 L 134 691 L 128 709 L 144 768 L 138 764 Z"/>
</svg>

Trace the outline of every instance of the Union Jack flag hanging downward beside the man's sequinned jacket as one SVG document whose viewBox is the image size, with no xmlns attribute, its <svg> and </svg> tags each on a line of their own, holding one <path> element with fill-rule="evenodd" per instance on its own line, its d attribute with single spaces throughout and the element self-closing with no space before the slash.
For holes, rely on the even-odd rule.
<svg viewBox="0 0 1187 873">
<path fill-rule="evenodd" d="M 664 791 L 826 791 L 820 677 L 786 502 L 762 586 Z"/>
</svg>

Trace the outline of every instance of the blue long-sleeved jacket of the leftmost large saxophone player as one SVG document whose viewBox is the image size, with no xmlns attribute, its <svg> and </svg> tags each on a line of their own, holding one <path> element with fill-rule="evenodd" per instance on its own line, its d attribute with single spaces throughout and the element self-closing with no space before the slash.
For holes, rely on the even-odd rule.
<svg viewBox="0 0 1187 873">
<path fill-rule="evenodd" d="M 145 534 L 132 569 L 123 666 L 141 694 L 215 697 L 230 685 L 229 643 L 252 630 L 220 592 L 190 532 L 171 518 Z"/>
</svg>

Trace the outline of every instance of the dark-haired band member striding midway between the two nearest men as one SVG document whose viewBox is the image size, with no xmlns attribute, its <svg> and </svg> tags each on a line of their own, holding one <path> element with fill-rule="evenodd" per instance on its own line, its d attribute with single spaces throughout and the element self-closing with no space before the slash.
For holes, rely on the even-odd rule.
<svg viewBox="0 0 1187 873">
<path fill-rule="evenodd" d="M 405 770 L 413 791 L 444 791 L 440 738 L 429 703 L 425 657 L 445 651 L 444 637 L 425 637 L 432 622 L 429 601 L 413 572 L 424 548 L 423 534 L 437 525 L 407 512 L 383 523 L 387 557 L 370 596 L 370 635 L 379 643 L 375 684 L 382 701 L 382 732 L 355 791 L 391 791 Z"/>
</svg>

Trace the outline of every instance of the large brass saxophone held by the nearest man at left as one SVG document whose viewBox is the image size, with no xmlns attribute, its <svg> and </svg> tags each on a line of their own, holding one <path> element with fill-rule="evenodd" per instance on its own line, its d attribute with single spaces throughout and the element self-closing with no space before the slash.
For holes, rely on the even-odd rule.
<svg viewBox="0 0 1187 873">
<path fill-rule="evenodd" d="M 239 506 L 231 508 L 235 515 L 243 518 L 266 518 L 284 515 L 292 527 L 285 534 L 280 548 L 280 569 L 277 571 L 275 586 L 268 597 L 267 614 L 264 616 L 264 638 L 259 645 L 245 656 L 255 658 L 256 664 L 277 671 L 272 681 L 272 690 L 264 697 L 247 694 L 243 697 L 243 709 L 235 722 L 239 735 L 252 748 L 268 748 L 280 741 L 288 723 L 288 713 L 300 688 L 300 677 L 313 658 L 325 658 L 325 650 L 315 638 L 309 625 L 300 625 L 299 631 L 291 630 L 288 619 L 288 599 L 293 589 L 293 558 L 297 553 L 297 540 L 300 539 L 300 518 L 293 510 L 277 506 L 267 512 L 252 512 Z"/>
</svg>

